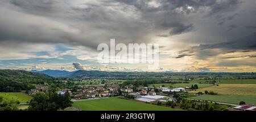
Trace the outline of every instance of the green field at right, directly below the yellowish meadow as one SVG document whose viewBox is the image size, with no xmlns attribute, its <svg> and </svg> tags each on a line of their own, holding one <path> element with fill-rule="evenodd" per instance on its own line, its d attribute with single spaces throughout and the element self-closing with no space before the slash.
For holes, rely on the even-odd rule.
<svg viewBox="0 0 256 122">
<path fill-rule="evenodd" d="M 199 95 L 191 97 L 191 99 L 208 100 L 215 102 L 233 103 L 239 104 L 240 101 L 245 101 L 246 104 L 256 104 L 256 97 L 244 96 L 244 95 Z"/>
</svg>

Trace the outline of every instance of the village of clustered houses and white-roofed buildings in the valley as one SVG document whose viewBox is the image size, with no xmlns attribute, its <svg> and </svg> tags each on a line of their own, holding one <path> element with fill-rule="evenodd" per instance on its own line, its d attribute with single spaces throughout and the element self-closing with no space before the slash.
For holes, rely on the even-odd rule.
<svg viewBox="0 0 256 122">
<path fill-rule="evenodd" d="M 31 89 L 28 94 L 35 95 L 40 91 L 46 91 L 48 84 L 38 85 L 36 89 Z M 165 87 L 154 87 L 154 86 L 133 86 L 126 85 L 123 88 L 116 82 L 106 82 L 105 85 L 81 85 L 79 86 L 79 92 L 72 92 L 72 89 L 60 89 L 57 94 L 69 94 L 72 100 L 81 99 L 94 99 L 94 98 L 106 98 L 106 97 L 116 97 L 116 96 L 132 96 L 136 101 L 141 102 L 155 102 L 155 101 L 173 101 L 172 92 L 187 92 L 190 86 L 185 88 L 165 88 Z"/>
</svg>

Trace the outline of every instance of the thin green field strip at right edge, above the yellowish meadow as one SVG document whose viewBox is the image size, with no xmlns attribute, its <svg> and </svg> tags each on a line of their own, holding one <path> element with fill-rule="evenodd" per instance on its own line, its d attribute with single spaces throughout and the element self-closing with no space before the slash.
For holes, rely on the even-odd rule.
<svg viewBox="0 0 256 122">
<path fill-rule="evenodd" d="M 220 84 L 256 84 L 256 79 L 217 80 Z"/>
</svg>

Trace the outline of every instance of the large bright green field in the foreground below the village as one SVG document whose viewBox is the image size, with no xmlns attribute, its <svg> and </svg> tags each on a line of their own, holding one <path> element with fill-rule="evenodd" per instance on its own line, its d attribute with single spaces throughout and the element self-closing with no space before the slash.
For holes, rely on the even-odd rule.
<svg viewBox="0 0 256 122">
<path fill-rule="evenodd" d="M 88 111 L 177 111 L 179 109 L 156 106 L 154 104 L 140 103 L 120 98 L 94 99 L 77 101 L 73 107 Z"/>
</svg>

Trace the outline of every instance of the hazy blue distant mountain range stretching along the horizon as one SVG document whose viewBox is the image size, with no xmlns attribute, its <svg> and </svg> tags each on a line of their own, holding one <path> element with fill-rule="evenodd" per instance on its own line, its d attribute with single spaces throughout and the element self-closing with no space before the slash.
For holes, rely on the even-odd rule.
<svg viewBox="0 0 256 122">
<path fill-rule="evenodd" d="M 166 75 L 193 75 L 195 73 L 201 74 L 201 75 L 209 75 L 209 74 L 235 74 L 231 72 L 110 72 L 110 71 L 84 71 L 84 70 L 77 70 L 77 71 L 59 71 L 59 70 L 52 70 L 47 69 L 45 71 L 31 71 L 31 72 L 37 72 L 37 73 L 43 73 L 48 76 L 52 77 L 67 77 L 67 78 L 117 78 L 117 79 L 133 79 L 135 77 L 164 77 Z M 252 73 L 252 72 L 251 72 Z M 246 74 L 245 73 L 239 73 L 239 74 Z"/>
</svg>

